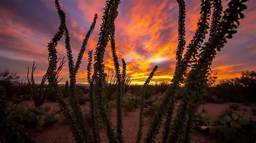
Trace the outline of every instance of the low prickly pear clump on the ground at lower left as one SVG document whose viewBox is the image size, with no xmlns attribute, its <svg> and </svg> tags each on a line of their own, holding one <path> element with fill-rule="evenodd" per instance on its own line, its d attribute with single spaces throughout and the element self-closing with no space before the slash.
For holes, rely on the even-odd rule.
<svg viewBox="0 0 256 143">
<path fill-rule="evenodd" d="M 43 126 L 49 126 L 58 120 L 58 115 L 52 113 L 49 106 L 22 106 L 8 103 L 5 110 L 8 120 L 14 120 L 18 124 L 26 127 L 37 128 L 41 130 Z"/>
</svg>

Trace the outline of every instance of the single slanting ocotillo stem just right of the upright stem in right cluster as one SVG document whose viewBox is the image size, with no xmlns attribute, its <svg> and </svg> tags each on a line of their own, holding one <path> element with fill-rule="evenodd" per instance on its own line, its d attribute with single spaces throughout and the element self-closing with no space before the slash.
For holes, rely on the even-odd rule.
<svg viewBox="0 0 256 143">
<path fill-rule="evenodd" d="M 158 133 L 158 129 L 159 129 L 159 126 L 161 125 L 161 120 L 164 113 L 166 112 L 166 109 L 171 109 L 171 110 L 173 109 L 174 102 L 176 101 L 175 93 L 188 67 L 188 62 L 190 62 L 192 55 L 196 55 L 201 42 L 203 42 L 205 38 L 205 34 L 207 33 L 207 28 L 209 28 L 207 23 L 207 18 L 210 16 L 210 8 L 211 8 L 210 1 L 203 0 L 201 4 L 201 12 L 200 12 L 201 16 L 198 22 L 197 31 L 193 39 L 191 40 L 191 44 L 188 45 L 187 47 L 188 49 L 184 59 L 176 67 L 171 85 L 169 88 L 167 88 L 165 92 L 163 102 L 160 104 L 160 108 L 157 110 L 157 112 L 153 116 L 150 129 L 147 131 L 145 142 L 152 142 L 156 138 L 156 134 Z"/>
</svg>

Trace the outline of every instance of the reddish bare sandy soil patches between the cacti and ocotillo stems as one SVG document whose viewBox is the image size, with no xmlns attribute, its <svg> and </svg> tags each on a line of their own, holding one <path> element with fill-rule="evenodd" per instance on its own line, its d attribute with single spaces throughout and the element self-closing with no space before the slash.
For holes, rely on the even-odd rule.
<svg viewBox="0 0 256 143">
<path fill-rule="evenodd" d="M 32 101 L 24 101 L 23 105 L 32 104 Z M 217 119 L 221 112 L 228 108 L 228 105 L 232 103 L 225 103 L 225 104 L 213 104 L 207 103 L 206 105 L 201 105 L 199 111 L 201 110 L 202 106 L 205 106 L 206 111 L 208 112 L 208 116 Z M 44 105 L 52 106 L 54 112 L 59 112 L 59 107 L 55 102 L 46 102 Z M 255 107 L 255 103 L 251 103 L 248 106 L 240 104 L 240 108 L 238 110 L 239 113 L 244 112 L 244 109 L 247 110 L 247 116 L 251 116 L 251 108 Z M 89 109 L 89 102 L 85 105 L 81 106 L 83 111 L 88 112 Z M 112 123 L 113 126 L 116 127 L 116 113 L 113 110 L 111 112 Z M 251 116 L 254 120 L 256 119 L 255 116 Z M 69 125 L 64 124 L 63 122 L 64 117 L 60 115 L 59 121 L 54 124 L 53 126 L 46 127 L 42 131 L 30 130 L 30 135 L 35 138 L 36 142 L 75 142 L 72 133 L 70 132 Z M 136 135 L 138 130 L 138 122 L 139 122 L 139 109 L 136 109 L 132 112 L 126 112 L 123 115 L 123 135 L 125 142 L 135 142 Z M 143 138 L 146 135 L 146 131 L 150 126 L 150 119 L 144 118 L 144 127 L 143 127 Z M 161 133 L 161 130 L 159 131 Z M 105 134 L 104 128 L 100 129 L 100 137 L 102 142 L 108 142 L 107 137 Z M 156 142 L 161 142 L 161 134 L 157 135 Z M 217 142 L 215 139 L 211 137 L 207 137 L 206 135 L 193 133 L 192 135 L 192 142 Z"/>
</svg>

